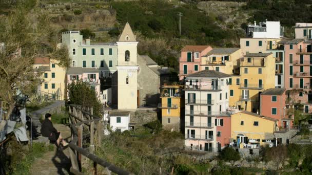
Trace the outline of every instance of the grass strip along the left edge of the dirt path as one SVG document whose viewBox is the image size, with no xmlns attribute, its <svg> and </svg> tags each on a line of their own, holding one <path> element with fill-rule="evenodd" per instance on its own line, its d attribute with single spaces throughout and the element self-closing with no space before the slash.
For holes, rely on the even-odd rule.
<svg viewBox="0 0 312 175">
<path fill-rule="evenodd" d="M 46 152 L 53 151 L 53 149 L 54 147 L 51 144 L 46 145 L 45 143 L 32 143 L 32 149 L 29 150 L 24 159 L 20 159 L 20 161 L 15 164 L 12 174 L 29 174 L 30 168 L 35 158 L 40 158 Z"/>
</svg>

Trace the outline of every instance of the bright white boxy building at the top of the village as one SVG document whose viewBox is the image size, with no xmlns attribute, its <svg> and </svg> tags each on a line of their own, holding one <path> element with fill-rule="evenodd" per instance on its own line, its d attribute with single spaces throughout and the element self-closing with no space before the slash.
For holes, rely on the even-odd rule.
<svg viewBox="0 0 312 175">
<path fill-rule="evenodd" d="M 280 38 L 284 35 L 284 28 L 281 27 L 280 21 L 265 21 L 248 25 L 246 29 L 247 37 L 252 38 Z"/>
</svg>

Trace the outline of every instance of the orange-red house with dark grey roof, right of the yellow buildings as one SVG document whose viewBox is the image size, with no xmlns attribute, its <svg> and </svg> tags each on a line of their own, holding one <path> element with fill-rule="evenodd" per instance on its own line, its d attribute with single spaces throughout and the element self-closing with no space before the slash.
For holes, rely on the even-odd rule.
<svg viewBox="0 0 312 175">
<path fill-rule="evenodd" d="M 281 130 L 288 130 L 293 126 L 293 117 L 286 114 L 286 90 L 268 89 L 260 96 L 260 115 L 279 120 Z"/>
</svg>

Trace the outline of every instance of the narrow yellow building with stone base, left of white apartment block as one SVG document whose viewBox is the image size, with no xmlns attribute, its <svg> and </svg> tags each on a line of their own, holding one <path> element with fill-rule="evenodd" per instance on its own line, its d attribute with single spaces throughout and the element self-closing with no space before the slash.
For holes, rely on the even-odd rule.
<svg viewBox="0 0 312 175">
<path fill-rule="evenodd" d="M 161 87 L 162 124 L 165 129 L 180 131 L 181 127 L 181 107 L 184 107 L 181 100 L 182 86 L 163 85 Z"/>
</svg>

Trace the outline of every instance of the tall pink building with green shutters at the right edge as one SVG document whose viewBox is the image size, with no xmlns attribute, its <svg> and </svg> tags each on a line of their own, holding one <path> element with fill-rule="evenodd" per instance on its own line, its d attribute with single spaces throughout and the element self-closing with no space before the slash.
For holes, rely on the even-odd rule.
<svg viewBox="0 0 312 175">
<path fill-rule="evenodd" d="M 285 58 L 285 89 L 296 90 L 297 94 L 290 94 L 288 97 L 304 104 L 304 113 L 309 113 L 312 109 L 311 40 L 293 39 L 286 42 Z"/>
</svg>

